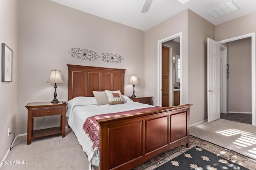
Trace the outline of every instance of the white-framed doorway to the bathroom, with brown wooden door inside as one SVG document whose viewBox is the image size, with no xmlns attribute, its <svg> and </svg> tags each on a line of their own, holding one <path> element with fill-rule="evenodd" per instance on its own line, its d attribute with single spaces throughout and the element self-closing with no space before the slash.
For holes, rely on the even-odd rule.
<svg viewBox="0 0 256 170">
<path fill-rule="evenodd" d="M 178 95 L 177 95 L 178 92 Z M 182 33 L 158 41 L 158 106 L 182 104 Z"/>
</svg>

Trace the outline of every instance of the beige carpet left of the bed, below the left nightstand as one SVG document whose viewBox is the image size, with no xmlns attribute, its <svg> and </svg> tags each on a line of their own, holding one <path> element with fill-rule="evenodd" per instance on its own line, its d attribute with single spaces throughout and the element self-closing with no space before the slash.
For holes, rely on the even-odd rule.
<svg viewBox="0 0 256 170">
<path fill-rule="evenodd" d="M 19 137 L 15 143 L 26 139 Z M 14 144 L 15 145 L 15 144 Z M 24 164 L 13 164 L 16 160 Z M 89 162 L 71 129 L 66 136 L 52 135 L 24 141 L 10 150 L 1 170 L 88 170 Z M 26 161 L 28 164 L 26 164 Z M 21 162 L 20 162 L 21 163 Z"/>
</svg>

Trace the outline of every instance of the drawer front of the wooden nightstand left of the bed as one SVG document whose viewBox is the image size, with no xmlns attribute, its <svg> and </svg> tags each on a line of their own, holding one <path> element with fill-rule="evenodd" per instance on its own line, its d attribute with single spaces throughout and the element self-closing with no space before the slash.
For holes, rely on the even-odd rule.
<svg viewBox="0 0 256 170">
<path fill-rule="evenodd" d="M 62 107 L 52 107 L 46 109 L 32 109 L 32 117 L 50 116 L 50 115 L 61 115 Z"/>
</svg>

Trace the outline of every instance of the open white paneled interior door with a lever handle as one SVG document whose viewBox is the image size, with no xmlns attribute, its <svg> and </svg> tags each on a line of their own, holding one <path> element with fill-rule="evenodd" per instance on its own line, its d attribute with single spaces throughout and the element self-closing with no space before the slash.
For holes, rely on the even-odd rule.
<svg viewBox="0 0 256 170">
<path fill-rule="evenodd" d="M 220 43 L 207 39 L 208 122 L 220 119 Z"/>
</svg>

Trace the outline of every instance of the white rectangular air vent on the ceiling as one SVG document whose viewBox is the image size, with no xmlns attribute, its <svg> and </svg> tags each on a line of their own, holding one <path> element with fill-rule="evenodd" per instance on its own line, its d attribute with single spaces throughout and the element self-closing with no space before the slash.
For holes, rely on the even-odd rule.
<svg viewBox="0 0 256 170">
<path fill-rule="evenodd" d="M 234 12 L 239 9 L 240 8 L 235 4 L 234 1 L 230 1 L 221 6 L 213 8 L 212 10 L 207 11 L 207 13 L 213 16 L 214 18 L 218 18 L 220 16 L 224 16 L 230 12 Z"/>
</svg>

